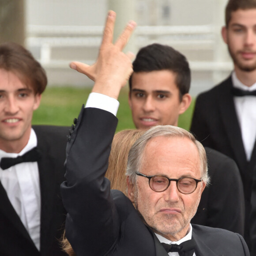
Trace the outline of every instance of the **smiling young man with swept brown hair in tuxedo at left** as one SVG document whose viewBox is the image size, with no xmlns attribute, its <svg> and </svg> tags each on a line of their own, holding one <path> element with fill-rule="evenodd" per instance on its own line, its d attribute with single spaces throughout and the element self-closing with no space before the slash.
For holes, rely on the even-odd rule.
<svg viewBox="0 0 256 256">
<path fill-rule="evenodd" d="M 60 199 L 68 129 L 31 127 L 45 70 L 21 45 L 0 45 L 0 254 L 61 256 Z"/>
</svg>

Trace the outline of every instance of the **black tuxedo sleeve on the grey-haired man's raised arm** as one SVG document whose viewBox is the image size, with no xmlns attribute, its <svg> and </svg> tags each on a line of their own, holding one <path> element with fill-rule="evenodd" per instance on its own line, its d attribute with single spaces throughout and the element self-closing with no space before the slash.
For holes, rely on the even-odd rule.
<svg viewBox="0 0 256 256">
<path fill-rule="evenodd" d="M 66 235 L 77 255 L 105 255 L 117 241 L 119 217 L 104 178 L 116 126 L 112 113 L 82 109 L 69 138 L 61 193 Z"/>
</svg>

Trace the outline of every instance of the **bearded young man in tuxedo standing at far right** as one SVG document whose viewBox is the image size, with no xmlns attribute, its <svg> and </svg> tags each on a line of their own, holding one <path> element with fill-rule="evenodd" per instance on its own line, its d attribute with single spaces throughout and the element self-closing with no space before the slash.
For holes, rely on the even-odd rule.
<svg viewBox="0 0 256 256">
<path fill-rule="evenodd" d="M 245 192 L 245 240 L 249 242 L 252 176 L 256 168 L 256 0 L 229 0 L 222 38 L 233 60 L 231 75 L 200 94 L 191 132 L 204 146 L 233 158 Z"/>
</svg>

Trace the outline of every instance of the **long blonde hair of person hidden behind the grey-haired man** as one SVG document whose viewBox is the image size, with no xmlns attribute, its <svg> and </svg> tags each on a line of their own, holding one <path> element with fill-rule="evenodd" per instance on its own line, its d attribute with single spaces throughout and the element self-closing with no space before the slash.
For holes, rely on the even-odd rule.
<svg viewBox="0 0 256 256">
<path fill-rule="evenodd" d="M 144 132 L 145 131 L 143 130 L 124 130 L 115 134 L 109 155 L 109 167 L 105 173 L 105 177 L 110 181 L 111 189 L 118 189 L 127 195 L 125 172 L 128 153 L 133 143 L 135 143 Z M 65 236 L 65 232 L 61 243 L 64 252 L 69 256 L 76 256 L 72 246 Z"/>
</svg>

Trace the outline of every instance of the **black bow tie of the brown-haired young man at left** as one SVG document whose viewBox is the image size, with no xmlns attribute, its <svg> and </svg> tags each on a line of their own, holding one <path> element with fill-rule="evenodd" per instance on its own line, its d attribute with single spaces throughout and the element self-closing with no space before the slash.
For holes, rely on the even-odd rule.
<svg viewBox="0 0 256 256">
<path fill-rule="evenodd" d="M 37 147 L 32 148 L 30 151 L 26 152 L 21 156 L 16 158 L 3 157 L 0 162 L 0 167 L 5 170 L 11 166 L 15 166 L 23 162 L 37 162 L 41 158 L 40 152 Z"/>
</svg>

